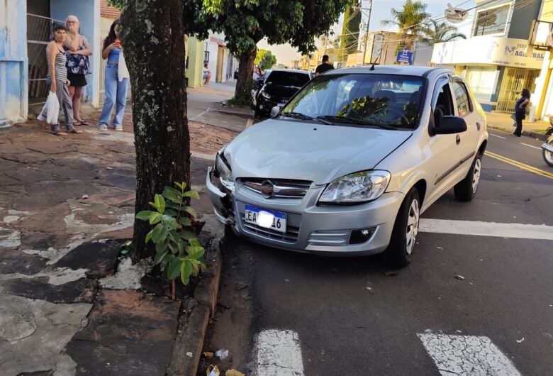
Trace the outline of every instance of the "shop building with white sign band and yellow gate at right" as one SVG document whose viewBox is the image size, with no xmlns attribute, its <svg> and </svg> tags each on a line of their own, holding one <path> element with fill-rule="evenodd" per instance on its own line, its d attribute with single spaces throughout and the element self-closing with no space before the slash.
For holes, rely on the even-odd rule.
<svg viewBox="0 0 553 376">
<path fill-rule="evenodd" d="M 523 88 L 535 91 L 544 61 L 528 43 L 541 3 L 477 0 L 470 38 L 437 43 L 432 63 L 462 74 L 486 111 L 512 112 Z"/>
</svg>

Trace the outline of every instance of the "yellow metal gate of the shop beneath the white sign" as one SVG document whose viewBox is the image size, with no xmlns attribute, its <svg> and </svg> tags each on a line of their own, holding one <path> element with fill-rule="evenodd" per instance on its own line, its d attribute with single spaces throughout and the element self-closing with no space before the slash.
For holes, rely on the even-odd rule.
<svg viewBox="0 0 553 376">
<path fill-rule="evenodd" d="M 520 97 L 520 91 L 526 88 L 533 92 L 538 75 L 540 75 L 540 70 L 505 68 L 496 111 L 513 112 L 516 101 Z"/>
</svg>

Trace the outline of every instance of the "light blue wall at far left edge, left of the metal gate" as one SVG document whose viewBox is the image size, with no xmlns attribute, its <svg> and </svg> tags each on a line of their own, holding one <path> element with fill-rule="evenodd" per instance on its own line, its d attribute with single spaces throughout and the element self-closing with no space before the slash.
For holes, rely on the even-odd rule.
<svg viewBox="0 0 553 376">
<path fill-rule="evenodd" d="M 26 1 L 0 1 L 0 127 L 28 111 Z"/>
</svg>

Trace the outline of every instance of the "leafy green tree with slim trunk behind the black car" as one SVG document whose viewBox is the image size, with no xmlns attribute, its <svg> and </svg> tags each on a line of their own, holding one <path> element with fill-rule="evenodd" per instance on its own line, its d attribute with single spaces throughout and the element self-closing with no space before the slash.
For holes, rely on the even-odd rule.
<svg viewBox="0 0 553 376">
<path fill-rule="evenodd" d="M 235 100 L 251 101 L 257 43 L 290 43 L 301 53 L 315 50 L 315 37 L 328 33 L 350 0 L 203 0 L 213 14 L 211 29 L 225 33 L 238 60 Z M 316 16 L 315 16 L 316 15 Z"/>
</svg>

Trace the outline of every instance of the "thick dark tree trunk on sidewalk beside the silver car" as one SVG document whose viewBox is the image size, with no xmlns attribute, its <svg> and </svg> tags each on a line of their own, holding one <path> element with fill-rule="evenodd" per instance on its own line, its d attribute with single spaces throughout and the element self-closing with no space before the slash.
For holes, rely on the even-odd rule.
<svg viewBox="0 0 553 376">
<path fill-rule="evenodd" d="M 121 34 L 133 94 L 135 213 L 173 182 L 189 183 L 182 0 L 125 1 Z M 135 219 L 133 261 L 153 257 L 150 224 Z"/>
</svg>

